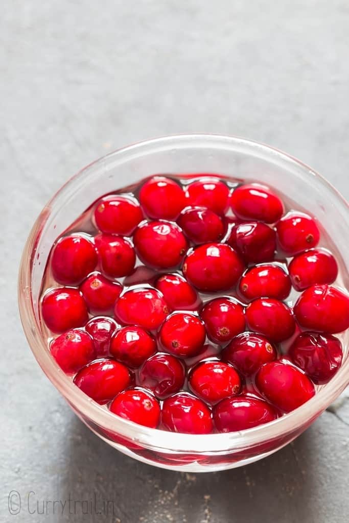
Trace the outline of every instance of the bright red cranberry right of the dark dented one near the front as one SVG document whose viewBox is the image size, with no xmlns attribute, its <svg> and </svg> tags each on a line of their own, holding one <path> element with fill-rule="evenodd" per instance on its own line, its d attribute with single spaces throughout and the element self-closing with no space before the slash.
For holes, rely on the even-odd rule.
<svg viewBox="0 0 349 523">
<path fill-rule="evenodd" d="M 237 371 L 222 361 L 203 361 L 190 372 L 189 389 L 207 403 L 239 394 L 241 379 Z"/>
</svg>

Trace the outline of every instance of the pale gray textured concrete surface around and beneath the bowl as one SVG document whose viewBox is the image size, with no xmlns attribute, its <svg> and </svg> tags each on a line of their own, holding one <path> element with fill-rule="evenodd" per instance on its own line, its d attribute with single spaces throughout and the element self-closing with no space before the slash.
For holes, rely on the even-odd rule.
<svg viewBox="0 0 349 523">
<path fill-rule="evenodd" d="M 299 157 L 348 197 L 347 1 L 4 0 L 1 13 L 0 520 L 348 521 L 345 397 L 264 461 L 204 475 L 155 469 L 74 417 L 33 359 L 16 304 L 21 249 L 43 204 L 134 141 L 241 135 Z M 110 504 L 109 516 L 81 504 L 95 495 L 114 516 Z M 50 503 L 38 514 L 69 497 L 76 514 Z"/>
</svg>

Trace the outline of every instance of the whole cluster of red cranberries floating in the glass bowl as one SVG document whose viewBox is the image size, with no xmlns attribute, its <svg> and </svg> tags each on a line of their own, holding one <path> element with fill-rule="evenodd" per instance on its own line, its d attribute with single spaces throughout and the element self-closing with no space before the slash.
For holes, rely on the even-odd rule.
<svg viewBox="0 0 349 523">
<path fill-rule="evenodd" d="M 58 365 L 111 412 L 181 433 L 242 430 L 339 369 L 349 298 L 331 286 L 336 260 L 317 248 L 316 221 L 285 214 L 271 189 L 155 176 L 91 212 L 94 237 L 53 246 L 60 287 L 41 312 Z"/>
</svg>

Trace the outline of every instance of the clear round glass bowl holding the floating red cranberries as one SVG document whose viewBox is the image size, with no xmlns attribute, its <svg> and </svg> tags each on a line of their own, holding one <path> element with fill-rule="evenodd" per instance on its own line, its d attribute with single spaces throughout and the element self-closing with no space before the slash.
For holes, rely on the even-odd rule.
<svg viewBox="0 0 349 523">
<path fill-rule="evenodd" d="M 218 135 L 179 135 L 125 147 L 88 165 L 57 192 L 40 213 L 26 243 L 18 299 L 28 343 L 42 370 L 73 411 L 109 445 L 165 469 L 206 472 L 239 467 L 285 446 L 305 430 L 349 382 L 348 339 L 335 377 L 306 404 L 267 425 L 229 434 L 185 435 L 150 429 L 98 405 L 65 376 L 51 357 L 39 321 L 41 280 L 55 239 L 99 196 L 159 173 L 220 173 L 258 179 L 297 201 L 322 223 L 342 254 L 349 288 L 349 208 L 321 176 L 271 147 Z"/>
</svg>

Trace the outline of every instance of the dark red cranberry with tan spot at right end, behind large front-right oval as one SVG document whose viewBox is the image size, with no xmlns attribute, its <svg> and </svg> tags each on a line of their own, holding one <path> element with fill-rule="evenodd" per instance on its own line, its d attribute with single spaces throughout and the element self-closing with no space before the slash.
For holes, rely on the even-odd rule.
<svg viewBox="0 0 349 523">
<path fill-rule="evenodd" d="M 275 360 L 276 356 L 276 349 L 267 338 L 252 332 L 239 334 L 222 352 L 222 359 L 244 376 L 251 376 L 263 363 Z"/>
</svg>

